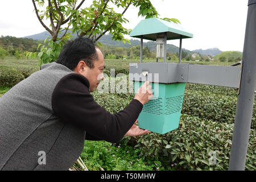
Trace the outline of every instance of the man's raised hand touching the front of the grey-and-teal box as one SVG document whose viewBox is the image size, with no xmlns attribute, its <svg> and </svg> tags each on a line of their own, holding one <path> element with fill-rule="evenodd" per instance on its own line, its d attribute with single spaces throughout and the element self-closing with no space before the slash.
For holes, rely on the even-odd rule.
<svg viewBox="0 0 256 182">
<path fill-rule="evenodd" d="M 135 94 L 134 99 L 137 99 L 141 104 L 146 104 L 153 97 L 152 89 L 150 82 L 146 81 L 144 84 L 138 89 Z"/>
</svg>

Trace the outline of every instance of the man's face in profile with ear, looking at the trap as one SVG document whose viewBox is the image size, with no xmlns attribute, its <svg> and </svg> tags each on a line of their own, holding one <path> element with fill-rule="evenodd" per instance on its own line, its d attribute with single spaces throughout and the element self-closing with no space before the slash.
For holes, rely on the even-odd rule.
<svg viewBox="0 0 256 182">
<path fill-rule="evenodd" d="M 77 65 L 76 71 L 80 75 L 86 77 L 90 83 L 90 92 L 96 90 L 100 81 L 104 79 L 103 69 L 105 68 L 104 57 L 101 53 L 101 50 L 96 47 L 96 53 L 98 59 L 93 61 L 94 68 L 89 68 L 86 64 Z M 80 61 L 81 62 L 81 61 Z"/>
</svg>

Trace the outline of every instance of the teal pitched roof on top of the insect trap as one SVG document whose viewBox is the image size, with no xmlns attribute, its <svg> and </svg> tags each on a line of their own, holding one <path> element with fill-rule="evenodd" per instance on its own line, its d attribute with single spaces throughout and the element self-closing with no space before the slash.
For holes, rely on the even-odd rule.
<svg viewBox="0 0 256 182">
<path fill-rule="evenodd" d="M 185 38 L 193 38 L 193 34 L 189 33 L 180 24 L 167 22 L 159 18 L 148 18 L 141 20 L 137 26 L 130 32 L 130 36 L 134 38 L 153 40 L 155 41 L 158 34 L 167 32 L 167 40 Z"/>
</svg>

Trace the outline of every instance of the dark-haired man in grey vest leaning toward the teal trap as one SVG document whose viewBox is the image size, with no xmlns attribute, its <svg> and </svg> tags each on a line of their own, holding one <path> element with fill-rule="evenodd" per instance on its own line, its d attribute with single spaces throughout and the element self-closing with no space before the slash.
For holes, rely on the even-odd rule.
<svg viewBox="0 0 256 182">
<path fill-rule="evenodd" d="M 149 133 L 134 125 L 152 97 L 148 82 L 125 109 L 111 114 L 90 94 L 104 79 L 104 68 L 92 40 L 77 38 L 56 62 L 42 65 L 0 97 L 0 169 L 68 170 L 84 139 L 115 143 L 124 135 Z"/>
</svg>

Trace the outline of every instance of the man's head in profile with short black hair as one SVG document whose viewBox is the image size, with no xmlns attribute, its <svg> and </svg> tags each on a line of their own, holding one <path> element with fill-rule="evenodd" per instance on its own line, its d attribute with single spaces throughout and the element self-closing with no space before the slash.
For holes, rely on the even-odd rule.
<svg viewBox="0 0 256 182">
<path fill-rule="evenodd" d="M 77 38 L 65 44 L 56 63 L 86 77 L 90 83 L 90 92 L 104 79 L 104 57 L 100 49 L 88 38 Z"/>
</svg>

